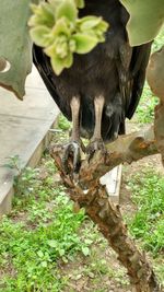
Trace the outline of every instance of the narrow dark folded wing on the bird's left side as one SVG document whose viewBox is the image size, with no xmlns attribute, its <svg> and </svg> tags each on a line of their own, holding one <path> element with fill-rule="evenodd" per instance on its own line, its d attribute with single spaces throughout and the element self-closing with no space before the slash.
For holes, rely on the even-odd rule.
<svg viewBox="0 0 164 292">
<path fill-rule="evenodd" d="M 43 49 L 33 45 L 33 62 L 36 66 L 48 92 L 56 102 L 62 114 L 71 120 L 70 110 L 62 106 L 62 97 L 58 94 L 56 84 L 54 82 L 54 71 L 49 62 L 49 58 L 44 54 Z"/>
</svg>

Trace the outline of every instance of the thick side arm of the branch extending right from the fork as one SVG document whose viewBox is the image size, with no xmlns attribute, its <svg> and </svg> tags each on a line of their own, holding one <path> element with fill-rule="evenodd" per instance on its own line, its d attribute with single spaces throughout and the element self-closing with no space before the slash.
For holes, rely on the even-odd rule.
<svg viewBox="0 0 164 292">
<path fill-rule="evenodd" d="M 106 145 L 107 153 L 96 152 L 92 161 L 85 160 L 80 171 L 80 180 L 92 185 L 92 182 L 121 163 L 132 163 L 142 157 L 156 154 L 153 127 L 120 136 Z"/>
</svg>

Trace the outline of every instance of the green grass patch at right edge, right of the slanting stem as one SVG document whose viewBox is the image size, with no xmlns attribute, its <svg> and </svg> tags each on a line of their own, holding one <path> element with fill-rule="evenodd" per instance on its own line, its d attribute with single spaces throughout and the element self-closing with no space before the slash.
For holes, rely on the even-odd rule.
<svg viewBox="0 0 164 292">
<path fill-rule="evenodd" d="M 164 249 L 164 178 L 150 170 L 130 179 L 129 186 L 138 211 L 130 231 L 153 255 Z"/>
</svg>

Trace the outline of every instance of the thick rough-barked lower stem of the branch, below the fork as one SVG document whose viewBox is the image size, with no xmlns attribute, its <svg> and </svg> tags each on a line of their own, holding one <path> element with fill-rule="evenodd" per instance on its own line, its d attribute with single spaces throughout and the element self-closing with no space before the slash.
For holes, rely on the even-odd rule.
<svg viewBox="0 0 164 292">
<path fill-rule="evenodd" d="M 79 191 L 79 188 L 73 188 L 70 190 L 70 197 L 81 207 L 85 207 L 87 215 L 98 225 L 98 230 L 117 253 L 119 261 L 127 268 L 134 291 L 160 291 L 145 255 L 138 250 L 134 242 L 128 236 L 119 207 L 115 207 L 109 201 L 105 188 L 99 185 L 90 189 L 85 196 Z"/>
</svg>

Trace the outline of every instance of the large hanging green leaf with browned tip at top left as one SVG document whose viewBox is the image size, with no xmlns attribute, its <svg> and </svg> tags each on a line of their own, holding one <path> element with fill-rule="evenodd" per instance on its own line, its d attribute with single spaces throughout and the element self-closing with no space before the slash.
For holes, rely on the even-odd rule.
<svg viewBox="0 0 164 292">
<path fill-rule="evenodd" d="M 0 0 L 0 58 L 3 57 L 11 65 L 9 71 L 0 72 L 0 85 L 14 92 L 21 100 L 25 94 L 26 75 L 32 68 L 32 44 L 27 30 L 31 2 Z"/>
</svg>

